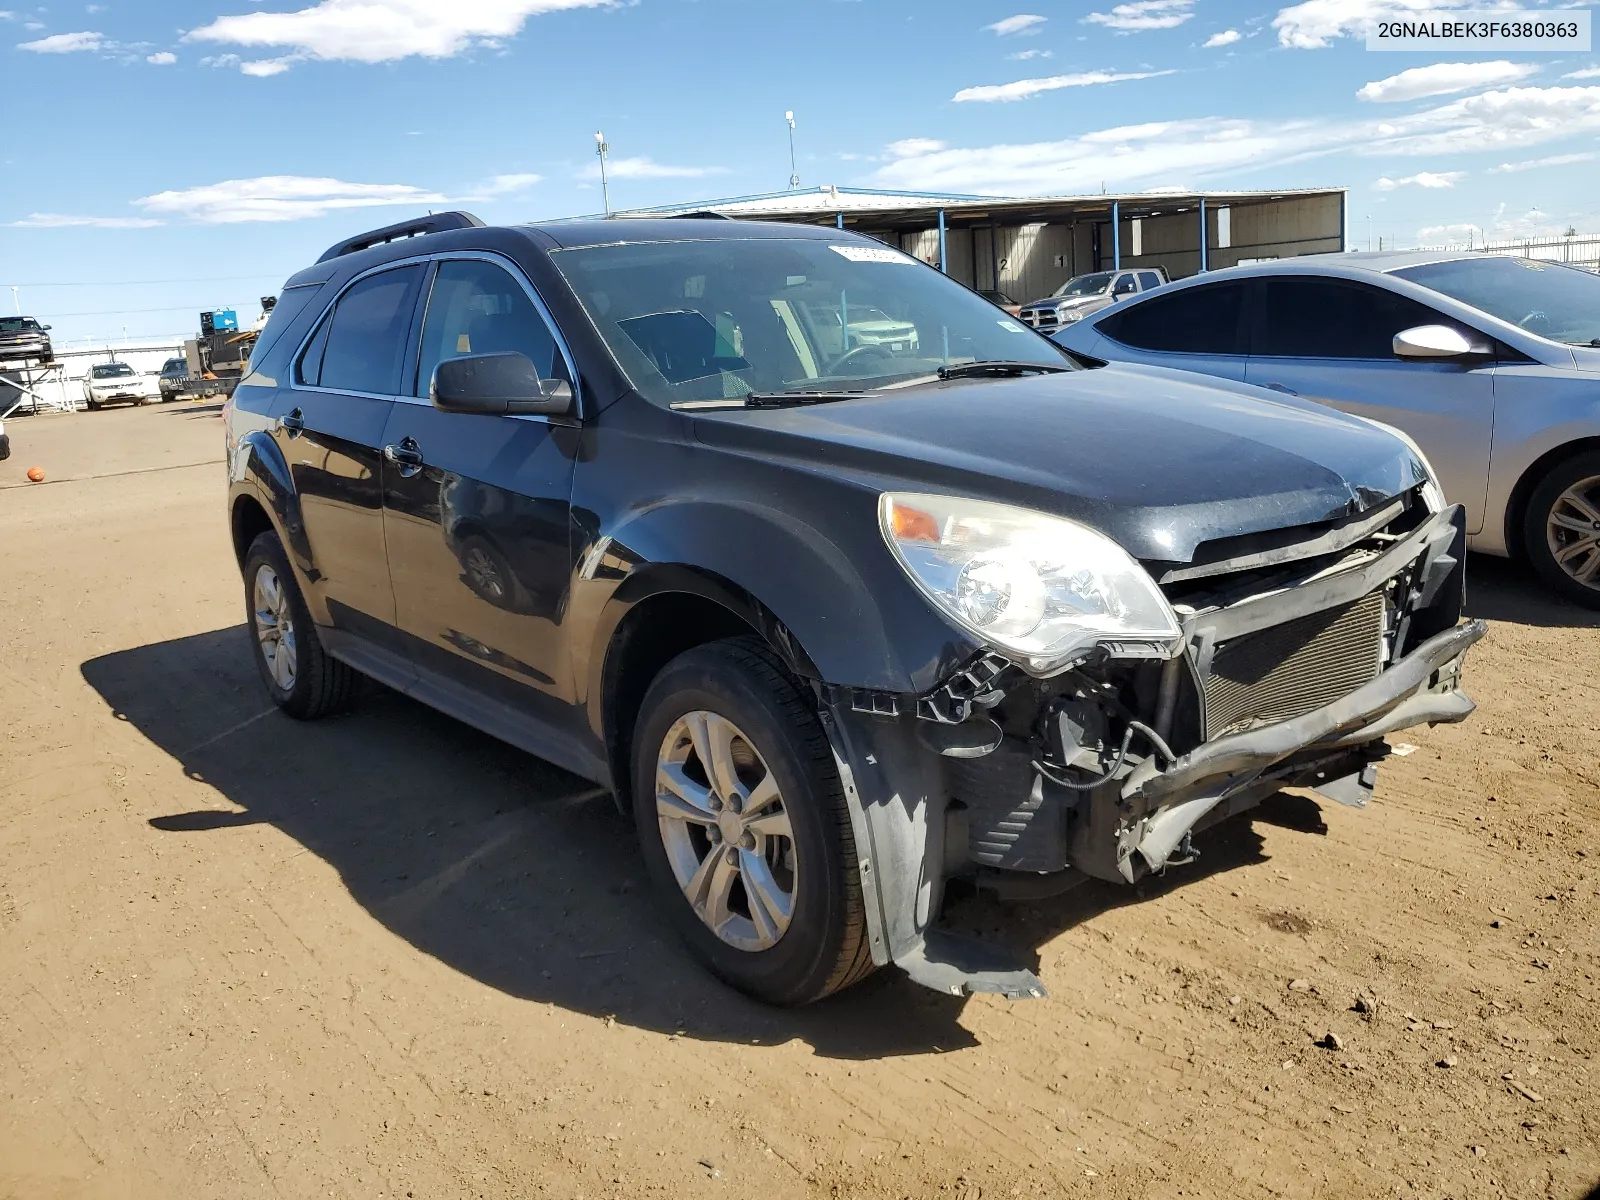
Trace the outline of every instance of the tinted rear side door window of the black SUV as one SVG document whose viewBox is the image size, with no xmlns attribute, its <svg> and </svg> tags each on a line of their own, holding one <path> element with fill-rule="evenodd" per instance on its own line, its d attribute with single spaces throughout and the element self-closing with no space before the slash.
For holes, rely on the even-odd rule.
<svg viewBox="0 0 1600 1200">
<path fill-rule="evenodd" d="M 301 382 L 395 395 L 422 264 L 368 275 L 346 291 L 301 355 Z"/>
</svg>

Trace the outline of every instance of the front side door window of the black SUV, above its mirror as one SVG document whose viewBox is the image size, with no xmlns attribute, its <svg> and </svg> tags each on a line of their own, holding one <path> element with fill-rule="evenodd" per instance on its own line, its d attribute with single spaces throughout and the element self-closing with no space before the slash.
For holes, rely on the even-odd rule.
<svg viewBox="0 0 1600 1200">
<path fill-rule="evenodd" d="M 413 394 L 429 395 L 434 368 L 448 358 L 512 350 L 526 355 L 541 379 L 566 379 L 549 325 L 510 272 L 477 259 L 440 262 Z"/>
</svg>

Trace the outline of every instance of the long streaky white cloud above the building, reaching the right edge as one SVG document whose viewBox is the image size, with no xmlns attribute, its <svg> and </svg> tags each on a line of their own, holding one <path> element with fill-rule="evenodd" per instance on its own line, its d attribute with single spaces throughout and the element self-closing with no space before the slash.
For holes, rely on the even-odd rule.
<svg viewBox="0 0 1600 1200">
<path fill-rule="evenodd" d="M 893 155 L 878 187 L 1029 195 L 1150 187 L 1354 154 L 1448 157 L 1506 152 L 1600 133 L 1600 86 L 1506 88 L 1392 120 L 1194 117 L 1128 125 L 1048 142 L 926 149 Z M 904 142 L 901 142 L 904 146 Z"/>
</svg>

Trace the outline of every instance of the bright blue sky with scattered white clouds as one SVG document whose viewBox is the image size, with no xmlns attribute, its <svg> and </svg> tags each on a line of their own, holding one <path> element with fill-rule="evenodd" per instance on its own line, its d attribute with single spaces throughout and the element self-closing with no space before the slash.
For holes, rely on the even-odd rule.
<svg viewBox="0 0 1600 1200">
<path fill-rule="evenodd" d="M 1600 234 L 1600 56 L 1422 0 L 0 0 L 0 310 L 178 334 L 339 237 L 806 186 L 1350 187 L 1352 242 Z M 1370 218 L 1370 226 L 1368 226 Z"/>
</svg>

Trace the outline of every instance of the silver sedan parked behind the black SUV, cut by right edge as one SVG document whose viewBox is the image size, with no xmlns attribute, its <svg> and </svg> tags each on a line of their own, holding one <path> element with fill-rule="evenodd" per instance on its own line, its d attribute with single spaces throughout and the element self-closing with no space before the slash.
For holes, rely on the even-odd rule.
<svg viewBox="0 0 1600 1200">
<path fill-rule="evenodd" d="M 1173 283 L 1054 339 L 1408 434 L 1469 546 L 1600 608 L 1600 277 L 1522 258 L 1294 258 Z"/>
</svg>

